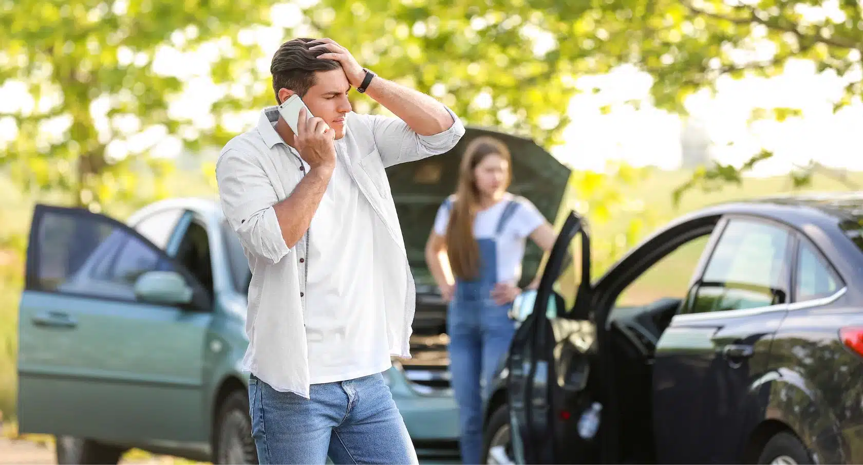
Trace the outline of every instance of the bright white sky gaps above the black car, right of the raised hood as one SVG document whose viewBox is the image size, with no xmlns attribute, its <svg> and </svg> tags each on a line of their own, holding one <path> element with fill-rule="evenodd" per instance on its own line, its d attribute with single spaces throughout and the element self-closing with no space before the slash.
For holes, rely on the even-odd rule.
<svg viewBox="0 0 863 465">
<path fill-rule="evenodd" d="M 603 104 L 645 98 L 652 82 L 649 76 L 620 69 L 583 80 L 595 80 L 597 84 L 590 85 L 602 92 L 573 98 L 573 122 L 565 129 L 564 145 L 554 149 L 559 158 L 590 169 L 599 169 L 608 160 L 625 160 L 634 166 L 679 166 L 680 117 L 656 108 L 634 110 L 624 105 L 611 114 L 601 114 Z M 857 132 L 863 128 L 863 105 L 858 102 L 833 113 L 833 103 L 843 87 L 835 76 L 818 75 L 812 63 L 797 60 L 777 78 L 722 79 L 715 97 L 702 91 L 690 97 L 686 106 L 692 123 L 701 126 L 712 142 L 710 155 L 722 163 L 739 166 L 764 147 L 774 157 L 757 165 L 755 174 L 787 173 L 809 160 L 863 170 Z M 783 123 L 747 123 L 755 108 L 782 107 L 798 108 L 802 116 Z"/>
</svg>

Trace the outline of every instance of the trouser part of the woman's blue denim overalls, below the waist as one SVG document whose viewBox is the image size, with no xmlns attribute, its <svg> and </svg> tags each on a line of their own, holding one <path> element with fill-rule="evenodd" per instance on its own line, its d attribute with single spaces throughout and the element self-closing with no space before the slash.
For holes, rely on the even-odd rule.
<svg viewBox="0 0 863 465">
<path fill-rule="evenodd" d="M 483 399 L 488 399 L 494 370 L 509 350 L 515 322 L 507 315 L 510 305 L 495 305 L 490 298 L 463 299 L 458 293 L 447 316 L 451 382 L 459 410 L 462 462 L 479 463 Z"/>
</svg>

